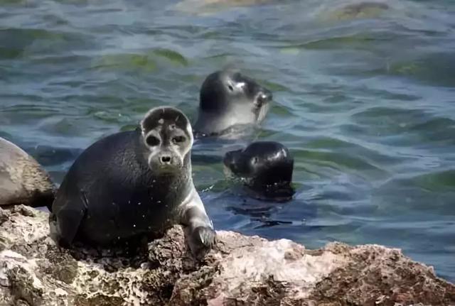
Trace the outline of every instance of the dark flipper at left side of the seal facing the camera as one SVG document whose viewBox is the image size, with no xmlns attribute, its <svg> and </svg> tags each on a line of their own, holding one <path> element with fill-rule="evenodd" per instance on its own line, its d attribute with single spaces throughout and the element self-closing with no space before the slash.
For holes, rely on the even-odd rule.
<svg viewBox="0 0 455 306">
<path fill-rule="evenodd" d="M 61 199 L 56 197 L 53 212 L 49 216 L 50 237 L 59 245 L 69 248 L 87 212 L 87 204 L 82 192 L 79 197 Z"/>
</svg>

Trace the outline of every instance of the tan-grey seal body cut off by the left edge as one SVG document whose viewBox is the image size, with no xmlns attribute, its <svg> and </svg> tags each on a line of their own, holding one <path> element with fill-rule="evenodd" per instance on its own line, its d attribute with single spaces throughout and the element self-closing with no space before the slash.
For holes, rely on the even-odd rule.
<svg viewBox="0 0 455 306">
<path fill-rule="evenodd" d="M 31 155 L 0 137 L 0 205 L 50 207 L 55 186 Z"/>
</svg>

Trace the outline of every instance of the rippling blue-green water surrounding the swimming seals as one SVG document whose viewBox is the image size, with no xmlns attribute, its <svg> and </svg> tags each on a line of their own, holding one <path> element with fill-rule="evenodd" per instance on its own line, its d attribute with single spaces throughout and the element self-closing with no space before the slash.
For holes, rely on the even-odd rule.
<svg viewBox="0 0 455 306">
<path fill-rule="evenodd" d="M 210 1 L 213 2 L 213 1 Z M 0 136 L 60 182 L 80 151 L 151 107 L 195 119 L 210 72 L 241 67 L 275 102 L 257 139 L 295 158 L 296 197 L 245 199 L 198 143 L 218 229 L 385 244 L 455 280 L 455 2 L 4 0 Z"/>
</svg>

